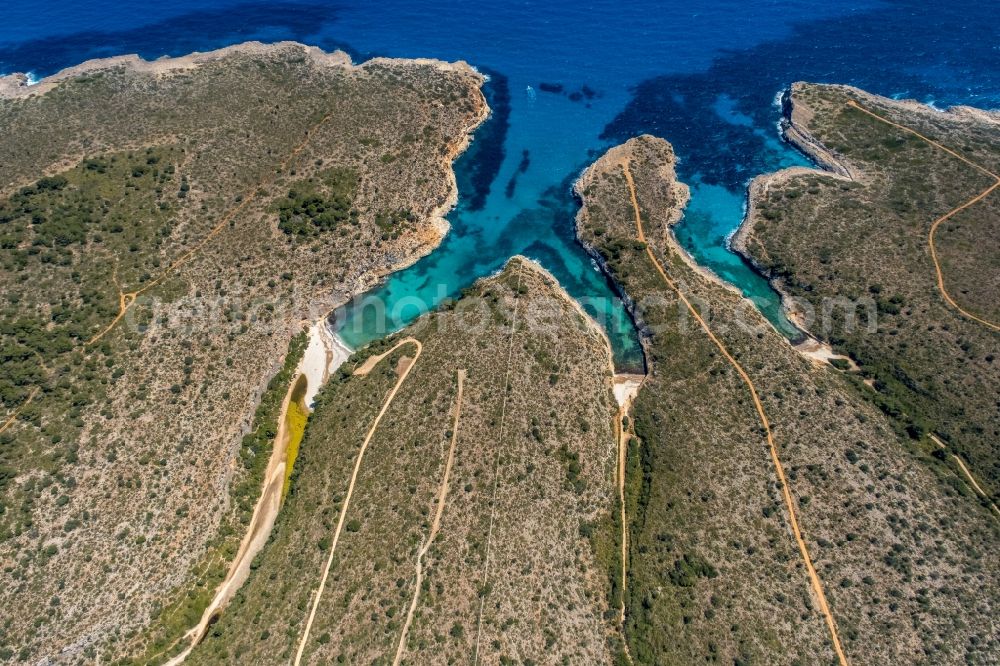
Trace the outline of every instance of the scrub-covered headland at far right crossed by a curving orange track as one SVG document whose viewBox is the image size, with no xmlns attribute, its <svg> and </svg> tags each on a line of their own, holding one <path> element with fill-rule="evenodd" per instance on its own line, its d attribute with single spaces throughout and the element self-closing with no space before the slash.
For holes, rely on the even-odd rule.
<svg viewBox="0 0 1000 666">
<path fill-rule="evenodd" d="M 745 251 L 789 294 L 821 312 L 824 298 L 867 299 L 854 330 L 847 311 L 829 331 L 873 384 L 858 390 L 927 453 L 934 433 L 1000 497 L 1000 330 L 963 316 L 941 295 L 931 223 L 995 182 L 973 166 L 857 108 L 912 128 L 988 171 L 1000 171 L 1000 118 L 941 113 L 842 86 L 796 84 L 790 138 L 847 174 L 779 174 L 753 188 Z M 1000 324 L 1000 192 L 942 223 L 935 234 L 948 292 Z M 877 333 L 867 331 L 874 313 Z M 851 313 L 855 314 L 855 313 Z M 817 322 L 821 324 L 822 322 Z"/>
</svg>

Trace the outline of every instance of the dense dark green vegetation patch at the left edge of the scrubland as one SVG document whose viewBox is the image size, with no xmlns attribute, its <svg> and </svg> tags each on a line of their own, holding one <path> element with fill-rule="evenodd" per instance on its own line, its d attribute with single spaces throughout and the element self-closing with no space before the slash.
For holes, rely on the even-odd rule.
<svg viewBox="0 0 1000 666">
<path fill-rule="evenodd" d="M 171 147 L 95 157 L 0 200 L 0 413 L 38 389 L 18 415 L 36 429 L 0 434 L 0 540 L 30 528 L 41 492 L 5 494 L 15 470 L 75 483 L 83 414 L 122 375 L 110 344 L 86 343 L 118 314 L 115 281 L 141 285 L 159 267 L 180 157 Z"/>
</svg>

